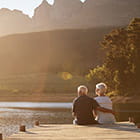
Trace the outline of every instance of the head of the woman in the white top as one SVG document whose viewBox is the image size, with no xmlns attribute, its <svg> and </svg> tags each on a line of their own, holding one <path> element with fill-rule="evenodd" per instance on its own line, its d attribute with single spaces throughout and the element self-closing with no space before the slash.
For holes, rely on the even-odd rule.
<svg viewBox="0 0 140 140">
<path fill-rule="evenodd" d="M 98 83 L 96 85 L 95 92 L 98 96 L 105 95 L 106 91 L 107 91 L 107 85 L 105 83 Z"/>
</svg>

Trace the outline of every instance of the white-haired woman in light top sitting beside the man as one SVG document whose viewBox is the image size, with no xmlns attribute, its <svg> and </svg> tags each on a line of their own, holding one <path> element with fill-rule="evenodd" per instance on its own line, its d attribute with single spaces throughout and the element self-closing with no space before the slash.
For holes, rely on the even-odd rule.
<svg viewBox="0 0 140 140">
<path fill-rule="evenodd" d="M 105 95 L 106 91 L 107 85 L 105 83 L 98 83 L 95 90 L 98 97 L 96 97 L 95 100 L 101 107 L 112 110 L 112 101 L 108 96 Z M 95 120 L 97 120 L 101 124 L 112 124 L 116 121 L 112 113 L 102 112 L 97 109 L 97 112 L 95 114 L 97 115 Z"/>
</svg>

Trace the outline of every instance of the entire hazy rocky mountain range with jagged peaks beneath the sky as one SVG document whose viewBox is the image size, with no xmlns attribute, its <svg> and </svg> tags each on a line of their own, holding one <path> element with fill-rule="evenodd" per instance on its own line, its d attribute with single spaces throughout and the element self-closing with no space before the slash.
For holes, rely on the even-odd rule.
<svg viewBox="0 0 140 140">
<path fill-rule="evenodd" d="M 46 0 L 29 18 L 19 10 L 0 9 L 0 36 L 56 29 L 124 26 L 140 17 L 140 0 Z"/>
</svg>

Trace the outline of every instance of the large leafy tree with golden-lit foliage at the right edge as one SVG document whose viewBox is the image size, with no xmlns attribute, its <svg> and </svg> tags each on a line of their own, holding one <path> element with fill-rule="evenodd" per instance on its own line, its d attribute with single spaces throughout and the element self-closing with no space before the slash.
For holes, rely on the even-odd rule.
<svg viewBox="0 0 140 140">
<path fill-rule="evenodd" d="M 90 81 L 105 82 L 120 95 L 138 94 L 140 82 L 140 19 L 115 29 L 101 42 L 104 64 L 90 71 Z"/>
</svg>

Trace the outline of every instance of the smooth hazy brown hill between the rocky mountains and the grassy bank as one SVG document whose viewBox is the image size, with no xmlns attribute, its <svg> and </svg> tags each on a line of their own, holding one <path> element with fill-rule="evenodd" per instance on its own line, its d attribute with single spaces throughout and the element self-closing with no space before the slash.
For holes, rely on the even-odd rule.
<svg viewBox="0 0 140 140">
<path fill-rule="evenodd" d="M 99 41 L 114 27 L 56 30 L 0 38 L 0 74 L 59 72 L 83 74 L 101 64 Z"/>
</svg>

